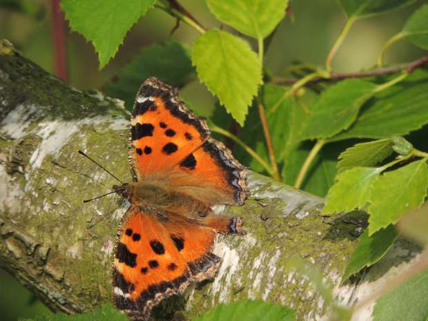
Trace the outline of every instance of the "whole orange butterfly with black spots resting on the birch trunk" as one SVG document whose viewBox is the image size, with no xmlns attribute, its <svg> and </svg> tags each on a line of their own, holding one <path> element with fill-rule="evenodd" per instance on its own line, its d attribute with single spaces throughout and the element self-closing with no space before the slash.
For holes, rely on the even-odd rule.
<svg viewBox="0 0 428 321">
<path fill-rule="evenodd" d="M 154 77 L 137 92 L 129 144 L 133 182 L 113 186 L 131 204 L 117 233 L 113 302 L 146 321 L 161 300 L 215 275 L 215 235 L 241 233 L 242 220 L 211 206 L 243 204 L 246 168 Z"/>
</svg>

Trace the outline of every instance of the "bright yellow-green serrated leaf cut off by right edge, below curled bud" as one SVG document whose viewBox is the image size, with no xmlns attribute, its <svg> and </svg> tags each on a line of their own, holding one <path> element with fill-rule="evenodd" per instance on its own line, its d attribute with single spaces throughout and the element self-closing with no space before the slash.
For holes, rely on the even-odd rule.
<svg viewBox="0 0 428 321">
<path fill-rule="evenodd" d="M 427 184 L 426 159 L 377 177 L 368 209 L 369 235 L 379 228 L 395 224 L 407 211 L 418 208 L 425 199 Z"/>
</svg>

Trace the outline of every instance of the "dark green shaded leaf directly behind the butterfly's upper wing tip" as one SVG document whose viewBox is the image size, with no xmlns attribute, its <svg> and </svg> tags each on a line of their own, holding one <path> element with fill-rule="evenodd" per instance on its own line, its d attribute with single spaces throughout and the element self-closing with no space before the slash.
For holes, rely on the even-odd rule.
<svg viewBox="0 0 428 321">
<path fill-rule="evenodd" d="M 104 91 L 111 97 L 125 101 L 133 109 L 135 93 L 148 77 L 157 77 L 174 87 L 182 87 L 196 76 L 190 52 L 182 43 L 170 42 L 144 48 L 129 64 L 121 68 L 117 79 L 106 85 Z"/>
</svg>

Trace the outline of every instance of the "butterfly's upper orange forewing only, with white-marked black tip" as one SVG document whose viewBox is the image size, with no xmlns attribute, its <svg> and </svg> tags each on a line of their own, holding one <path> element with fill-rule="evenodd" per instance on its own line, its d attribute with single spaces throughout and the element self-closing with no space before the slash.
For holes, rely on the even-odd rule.
<svg viewBox="0 0 428 321">
<path fill-rule="evenodd" d="M 208 135 L 204 119 L 184 107 L 174 88 L 149 78 L 137 93 L 131 121 L 130 164 L 135 179 L 166 175 Z"/>
</svg>

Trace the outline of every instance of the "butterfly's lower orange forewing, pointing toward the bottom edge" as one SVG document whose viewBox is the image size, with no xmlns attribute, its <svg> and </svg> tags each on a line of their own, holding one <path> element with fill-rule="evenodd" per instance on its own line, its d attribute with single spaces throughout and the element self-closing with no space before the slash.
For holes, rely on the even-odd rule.
<svg viewBox="0 0 428 321">
<path fill-rule="evenodd" d="M 175 216 L 157 217 L 131 206 L 119 228 L 113 262 L 113 302 L 131 320 L 148 320 L 162 299 L 191 281 L 212 278 L 220 258 L 215 231 Z"/>
</svg>

